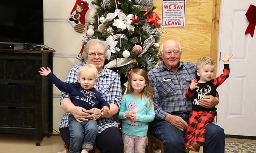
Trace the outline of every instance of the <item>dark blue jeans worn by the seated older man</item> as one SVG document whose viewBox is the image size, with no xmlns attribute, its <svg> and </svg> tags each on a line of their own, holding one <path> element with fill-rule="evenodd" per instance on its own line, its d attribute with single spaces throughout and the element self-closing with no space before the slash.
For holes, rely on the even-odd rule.
<svg viewBox="0 0 256 153">
<path fill-rule="evenodd" d="M 182 117 L 188 122 L 189 114 L 173 114 Z M 153 121 L 150 123 L 150 132 L 162 141 L 165 153 L 184 153 L 184 132 L 175 128 L 165 120 Z M 205 132 L 204 153 L 224 153 L 225 134 L 223 129 L 210 123 Z"/>
</svg>

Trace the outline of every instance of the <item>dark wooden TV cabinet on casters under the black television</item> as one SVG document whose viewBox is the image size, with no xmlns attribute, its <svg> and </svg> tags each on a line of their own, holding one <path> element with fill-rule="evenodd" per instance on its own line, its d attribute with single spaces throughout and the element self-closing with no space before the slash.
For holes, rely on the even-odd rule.
<svg viewBox="0 0 256 153">
<path fill-rule="evenodd" d="M 53 70 L 54 50 L 0 51 L 0 132 L 37 137 L 37 146 L 53 132 L 53 84 L 39 75 Z"/>
</svg>

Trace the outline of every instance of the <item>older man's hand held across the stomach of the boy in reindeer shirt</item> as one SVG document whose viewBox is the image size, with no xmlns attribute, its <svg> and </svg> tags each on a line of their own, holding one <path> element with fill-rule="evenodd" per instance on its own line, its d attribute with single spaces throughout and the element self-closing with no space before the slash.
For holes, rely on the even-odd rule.
<svg viewBox="0 0 256 153">
<path fill-rule="evenodd" d="M 210 95 L 198 100 L 198 103 L 202 107 L 212 108 L 219 103 L 219 99 L 217 97 L 213 97 L 212 95 Z"/>
</svg>

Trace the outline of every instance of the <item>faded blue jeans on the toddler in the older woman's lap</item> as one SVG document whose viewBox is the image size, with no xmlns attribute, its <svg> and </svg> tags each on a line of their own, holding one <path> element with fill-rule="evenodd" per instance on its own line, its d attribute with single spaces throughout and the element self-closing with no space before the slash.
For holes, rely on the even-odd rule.
<svg viewBox="0 0 256 153">
<path fill-rule="evenodd" d="M 82 149 L 93 149 L 98 134 L 97 122 L 95 120 L 79 123 L 69 115 L 70 145 L 69 153 L 80 153 Z"/>
</svg>

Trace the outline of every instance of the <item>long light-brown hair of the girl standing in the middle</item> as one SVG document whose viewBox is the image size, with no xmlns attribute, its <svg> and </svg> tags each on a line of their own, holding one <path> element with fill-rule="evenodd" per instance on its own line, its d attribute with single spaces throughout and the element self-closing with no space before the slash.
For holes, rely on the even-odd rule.
<svg viewBox="0 0 256 153">
<path fill-rule="evenodd" d="M 154 101 L 153 101 L 154 93 L 153 93 L 153 89 L 152 89 L 151 85 L 148 82 L 147 72 L 145 70 L 143 70 L 143 69 L 134 69 L 134 70 L 131 71 L 130 77 L 128 78 L 126 94 L 131 94 L 131 92 L 133 91 L 133 88 L 131 86 L 131 81 L 132 81 L 131 79 L 132 79 L 133 74 L 141 75 L 145 79 L 146 86 L 143 88 L 143 90 L 141 92 L 143 93 L 142 96 L 147 96 L 148 97 L 148 100 L 149 100 L 149 103 L 150 103 L 149 108 L 151 108 L 153 103 L 154 103 Z"/>
</svg>

